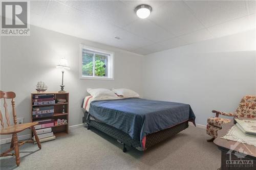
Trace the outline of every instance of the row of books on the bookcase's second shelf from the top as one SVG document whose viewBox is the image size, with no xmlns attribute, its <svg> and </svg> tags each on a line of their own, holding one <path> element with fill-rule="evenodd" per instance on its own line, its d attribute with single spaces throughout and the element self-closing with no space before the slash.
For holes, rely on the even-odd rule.
<svg viewBox="0 0 256 170">
<path fill-rule="evenodd" d="M 54 114 L 54 106 L 33 107 L 33 118 L 49 117 Z"/>
</svg>

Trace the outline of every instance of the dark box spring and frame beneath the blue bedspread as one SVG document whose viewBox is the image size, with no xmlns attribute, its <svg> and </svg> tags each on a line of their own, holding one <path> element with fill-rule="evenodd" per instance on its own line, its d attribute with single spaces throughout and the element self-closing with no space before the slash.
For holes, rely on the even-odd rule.
<svg viewBox="0 0 256 170">
<path fill-rule="evenodd" d="M 112 126 L 106 125 L 101 122 L 97 122 L 95 120 L 90 119 L 90 114 L 86 111 L 84 111 L 84 117 L 83 117 L 83 123 L 85 123 L 85 126 L 89 130 L 90 127 L 94 127 L 101 132 L 108 134 L 109 136 L 112 136 L 113 138 L 117 139 L 119 142 L 123 144 L 123 152 L 126 152 L 126 145 L 129 147 L 136 148 L 139 151 L 143 151 L 140 145 L 140 141 L 136 139 L 132 139 L 128 134 L 124 133 L 123 131 L 114 128 Z M 176 126 L 149 134 L 146 136 L 146 145 L 145 149 L 152 147 L 153 145 L 166 140 L 167 138 L 170 138 L 177 133 L 183 131 L 188 127 L 188 120 L 186 122 L 180 123 Z"/>
</svg>

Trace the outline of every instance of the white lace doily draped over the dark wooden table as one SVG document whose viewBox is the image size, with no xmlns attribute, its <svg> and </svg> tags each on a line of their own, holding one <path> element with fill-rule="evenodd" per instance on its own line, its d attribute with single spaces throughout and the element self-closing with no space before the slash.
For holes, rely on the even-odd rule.
<svg viewBox="0 0 256 170">
<path fill-rule="evenodd" d="M 221 138 L 254 145 L 256 147 L 256 136 L 244 134 L 236 125 L 232 126 L 228 133 Z"/>
</svg>

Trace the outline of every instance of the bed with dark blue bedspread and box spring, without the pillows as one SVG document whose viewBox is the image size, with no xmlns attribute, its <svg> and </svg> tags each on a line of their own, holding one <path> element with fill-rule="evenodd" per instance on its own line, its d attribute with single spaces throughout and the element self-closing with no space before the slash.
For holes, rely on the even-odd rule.
<svg viewBox="0 0 256 170">
<path fill-rule="evenodd" d="M 153 101 L 140 98 L 92 101 L 83 99 L 83 122 L 123 144 L 145 151 L 188 127 L 195 125 L 195 114 L 190 105 Z M 196 126 L 196 125 L 195 125 Z"/>
</svg>

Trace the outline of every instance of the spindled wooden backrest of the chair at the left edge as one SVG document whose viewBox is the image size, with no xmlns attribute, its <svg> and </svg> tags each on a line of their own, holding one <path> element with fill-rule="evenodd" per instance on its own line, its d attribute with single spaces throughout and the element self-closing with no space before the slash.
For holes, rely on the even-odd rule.
<svg viewBox="0 0 256 170">
<path fill-rule="evenodd" d="M 5 118 L 6 118 L 6 123 L 8 126 L 10 126 L 10 118 L 9 118 L 9 112 L 8 112 L 8 105 L 6 102 L 6 99 L 11 99 L 12 103 L 12 115 L 13 115 L 13 123 L 14 125 L 17 125 L 17 116 L 16 116 L 16 111 L 15 111 L 15 98 L 16 94 L 12 91 L 0 91 L 0 99 L 4 99 L 4 108 L 5 108 Z M 1 126 L 4 128 L 4 118 L 0 109 L 0 120 L 1 120 Z"/>
</svg>

